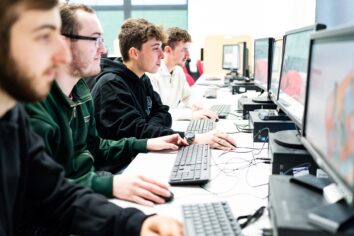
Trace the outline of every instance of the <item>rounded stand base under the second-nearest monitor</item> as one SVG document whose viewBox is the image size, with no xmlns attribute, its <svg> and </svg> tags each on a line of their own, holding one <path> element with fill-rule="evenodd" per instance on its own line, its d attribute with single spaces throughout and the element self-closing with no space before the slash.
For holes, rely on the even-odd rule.
<svg viewBox="0 0 354 236">
<path fill-rule="evenodd" d="M 288 148 L 305 149 L 300 141 L 300 134 L 297 130 L 282 130 L 274 134 L 274 142 Z"/>
</svg>

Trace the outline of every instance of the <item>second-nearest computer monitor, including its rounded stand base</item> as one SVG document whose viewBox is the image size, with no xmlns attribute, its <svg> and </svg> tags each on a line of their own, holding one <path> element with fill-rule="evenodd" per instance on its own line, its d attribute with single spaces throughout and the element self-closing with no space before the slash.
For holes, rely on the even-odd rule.
<svg viewBox="0 0 354 236">
<path fill-rule="evenodd" d="M 276 104 L 299 128 L 302 127 L 304 113 L 310 36 L 325 27 L 322 24 L 308 26 L 289 31 L 283 38 L 285 46 Z M 274 141 L 285 147 L 303 148 L 300 137 L 297 131 L 278 131 Z"/>
</svg>

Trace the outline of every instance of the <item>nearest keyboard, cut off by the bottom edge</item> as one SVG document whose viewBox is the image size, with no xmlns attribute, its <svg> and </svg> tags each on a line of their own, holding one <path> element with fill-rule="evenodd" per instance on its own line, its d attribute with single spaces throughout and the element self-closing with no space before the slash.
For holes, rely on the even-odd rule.
<svg viewBox="0 0 354 236">
<path fill-rule="evenodd" d="M 187 236 L 242 235 L 227 202 L 182 205 L 182 212 Z"/>
</svg>

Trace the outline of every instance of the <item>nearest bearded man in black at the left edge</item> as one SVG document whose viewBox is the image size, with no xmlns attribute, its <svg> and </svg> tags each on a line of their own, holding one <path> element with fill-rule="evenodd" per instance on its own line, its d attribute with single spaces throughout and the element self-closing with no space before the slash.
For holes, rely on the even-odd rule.
<svg viewBox="0 0 354 236">
<path fill-rule="evenodd" d="M 57 4 L 0 3 L 0 235 L 181 235 L 175 220 L 122 209 L 68 183 L 30 129 L 17 102 L 43 99 L 58 66 L 70 61 Z"/>
</svg>

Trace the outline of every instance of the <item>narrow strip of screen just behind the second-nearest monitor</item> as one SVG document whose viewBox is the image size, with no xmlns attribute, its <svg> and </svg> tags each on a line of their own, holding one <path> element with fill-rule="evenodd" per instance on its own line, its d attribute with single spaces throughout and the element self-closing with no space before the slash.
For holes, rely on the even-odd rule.
<svg viewBox="0 0 354 236">
<path fill-rule="evenodd" d="M 278 99 L 278 89 L 281 71 L 281 60 L 283 52 L 283 39 L 277 39 L 273 46 L 272 74 L 270 80 L 270 96 L 273 101 Z"/>
</svg>

